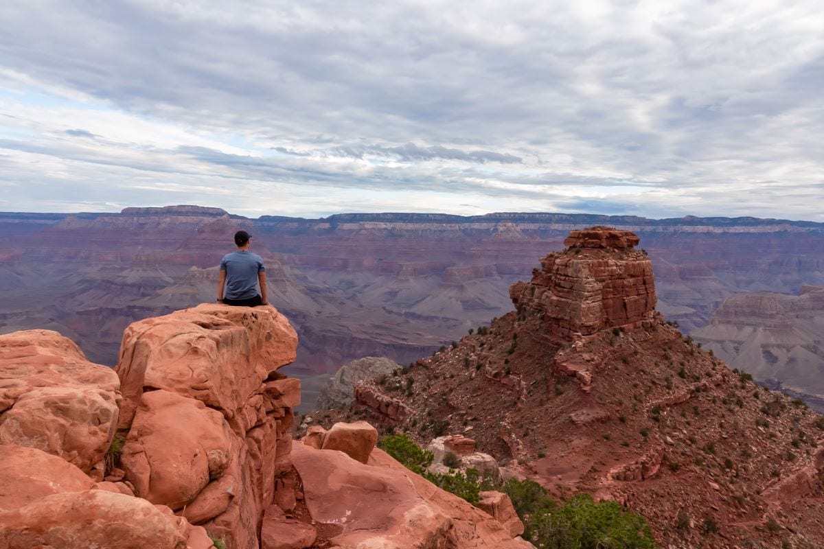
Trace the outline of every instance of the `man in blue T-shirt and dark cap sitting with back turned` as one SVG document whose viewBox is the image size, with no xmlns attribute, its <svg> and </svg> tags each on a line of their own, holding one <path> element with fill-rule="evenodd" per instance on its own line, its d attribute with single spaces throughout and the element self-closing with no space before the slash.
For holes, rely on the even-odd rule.
<svg viewBox="0 0 824 549">
<path fill-rule="evenodd" d="M 255 307 L 266 301 L 266 268 L 263 258 L 249 251 L 251 236 L 246 230 L 235 233 L 237 251 L 223 256 L 218 279 L 218 303 Z M 260 294 L 257 284 L 260 283 Z M 224 295 L 225 290 L 225 295 Z"/>
</svg>

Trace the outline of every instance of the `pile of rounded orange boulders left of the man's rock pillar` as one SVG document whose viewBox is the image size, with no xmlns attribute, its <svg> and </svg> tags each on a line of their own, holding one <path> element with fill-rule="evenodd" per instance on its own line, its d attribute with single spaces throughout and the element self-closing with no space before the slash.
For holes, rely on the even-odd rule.
<svg viewBox="0 0 824 549">
<path fill-rule="evenodd" d="M 213 547 L 204 528 L 134 497 L 104 463 L 121 401 L 114 371 L 34 330 L 0 337 L 0 380 L 0 547 Z M 106 469 L 109 481 L 95 482 Z"/>
</svg>

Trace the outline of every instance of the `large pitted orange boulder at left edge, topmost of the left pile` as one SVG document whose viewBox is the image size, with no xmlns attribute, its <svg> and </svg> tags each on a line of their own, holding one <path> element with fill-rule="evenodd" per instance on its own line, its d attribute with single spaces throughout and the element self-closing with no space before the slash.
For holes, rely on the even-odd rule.
<svg viewBox="0 0 824 549">
<path fill-rule="evenodd" d="M 119 380 L 48 330 L 0 336 L 0 444 L 59 455 L 85 472 L 109 448 Z"/>
</svg>

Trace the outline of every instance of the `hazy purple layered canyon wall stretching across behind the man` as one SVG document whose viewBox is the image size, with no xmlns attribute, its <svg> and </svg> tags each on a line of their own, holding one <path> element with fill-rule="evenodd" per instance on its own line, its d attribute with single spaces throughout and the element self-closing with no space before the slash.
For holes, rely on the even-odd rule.
<svg viewBox="0 0 824 549">
<path fill-rule="evenodd" d="M 686 332 L 731 295 L 824 286 L 824 225 L 755 218 L 347 214 L 247 219 L 216 208 L 0 214 L 0 332 L 49 328 L 114 365 L 124 328 L 216 295 L 235 230 L 255 235 L 271 301 L 301 340 L 293 375 L 362 356 L 426 356 L 509 308 L 508 287 L 570 230 L 632 230 L 655 263 L 657 309 Z M 640 250 L 639 250 L 640 251 Z"/>
</svg>

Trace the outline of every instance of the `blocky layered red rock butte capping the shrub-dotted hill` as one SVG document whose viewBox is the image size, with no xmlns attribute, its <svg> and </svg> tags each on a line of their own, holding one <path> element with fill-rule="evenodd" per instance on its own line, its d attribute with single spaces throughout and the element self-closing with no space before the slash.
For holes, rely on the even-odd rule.
<svg viewBox="0 0 824 549">
<path fill-rule="evenodd" d="M 657 300 L 653 265 L 634 249 L 638 243 L 627 230 L 574 230 L 564 240 L 569 248 L 541 259 L 541 270 L 509 295 L 518 312 L 544 314 L 559 337 L 638 324 L 652 317 Z"/>
</svg>

